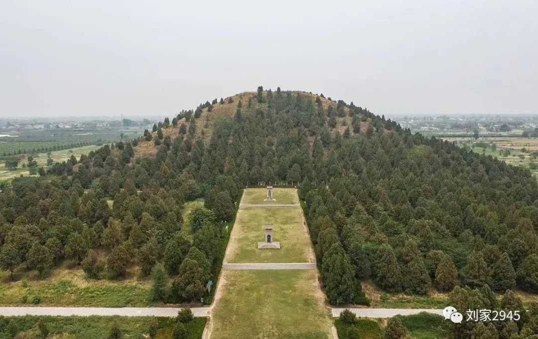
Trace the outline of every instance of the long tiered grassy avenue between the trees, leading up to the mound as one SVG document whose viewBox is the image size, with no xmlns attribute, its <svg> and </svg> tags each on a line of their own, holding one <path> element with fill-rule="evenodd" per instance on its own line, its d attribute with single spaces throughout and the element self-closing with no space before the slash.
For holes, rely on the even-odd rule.
<svg viewBox="0 0 538 339">
<path fill-rule="evenodd" d="M 225 263 L 315 263 L 295 189 L 275 188 L 278 204 L 239 207 Z M 242 204 L 264 205 L 265 189 L 246 189 Z M 273 223 L 280 249 L 258 249 Z M 330 308 L 317 269 L 223 270 L 210 311 L 210 338 L 331 338 Z"/>
</svg>

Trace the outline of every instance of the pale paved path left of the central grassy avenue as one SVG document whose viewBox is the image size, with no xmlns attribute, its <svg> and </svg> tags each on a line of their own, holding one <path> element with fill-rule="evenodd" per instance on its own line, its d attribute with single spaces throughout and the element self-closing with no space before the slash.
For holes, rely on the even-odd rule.
<svg viewBox="0 0 538 339">
<path fill-rule="evenodd" d="M 122 315 L 122 316 L 167 316 L 178 315 L 181 308 L 175 307 L 0 307 L 0 315 Z M 209 307 L 191 308 L 194 316 L 207 316 Z"/>
</svg>

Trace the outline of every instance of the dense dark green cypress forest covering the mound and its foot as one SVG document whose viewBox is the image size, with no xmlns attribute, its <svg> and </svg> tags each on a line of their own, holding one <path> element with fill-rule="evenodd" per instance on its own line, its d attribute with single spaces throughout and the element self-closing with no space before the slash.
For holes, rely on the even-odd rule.
<svg viewBox="0 0 538 339">
<path fill-rule="evenodd" d="M 365 278 L 451 298 L 538 293 L 538 185 L 527 169 L 323 95 L 260 86 L 39 173 L 0 193 L 4 270 L 71 260 L 117 279 L 138 265 L 156 300 L 197 300 L 218 275 L 220 221 L 233 220 L 241 189 L 276 182 L 299 186 L 331 304 L 368 304 Z M 181 207 L 197 198 L 205 207 L 187 239 Z"/>
</svg>

